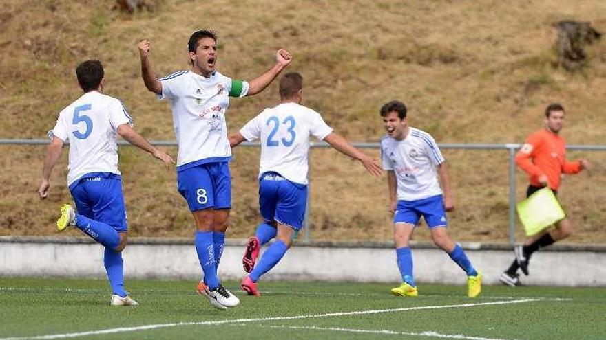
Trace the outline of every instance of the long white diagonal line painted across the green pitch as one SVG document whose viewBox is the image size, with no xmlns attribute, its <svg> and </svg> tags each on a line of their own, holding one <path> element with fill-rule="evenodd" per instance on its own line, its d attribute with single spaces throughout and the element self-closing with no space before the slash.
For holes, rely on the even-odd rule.
<svg viewBox="0 0 606 340">
<path fill-rule="evenodd" d="M 295 319 L 311 319 L 316 317 L 342 317 L 347 315 L 365 315 L 365 314 L 379 314 L 379 313 L 393 313 L 393 312 L 405 312 L 408 310 L 425 310 L 425 309 L 443 309 L 443 308 L 459 308 L 459 307 L 475 307 L 475 306 L 494 306 L 499 304 L 522 304 L 525 302 L 535 302 L 539 299 L 519 299 L 510 301 L 495 301 L 495 302 L 479 302 L 475 304 L 450 304 L 442 306 L 418 306 L 418 307 L 407 307 L 407 308 L 389 308 L 389 309 L 371 309 L 371 310 L 356 310 L 353 312 L 338 312 L 338 313 L 322 313 L 312 315 L 294 315 L 291 317 L 259 317 L 251 319 L 225 319 L 218 321 L 190 321 L 190 322 L 177 322 L 174 324 L 152 324 L 145 326 L 133 326 L 133 327 L 120 327 L 120 328 L 107 328 L 105 330 L 90 330 L 87 332 L 77 333 L 65 333 L 55 335 L 38 335 L 34 337 L 10 337 L 0 338 L 0 340 L 39 340 L 39 339 L 67 339 L 74 337 L 85 337 L 88 335 L 104 335 L 122 332 L 134 332 L 137 330 L 151 330 L 156 328 L 169 328 L 178 326 L 211 326 L 211 325 L 222 325 L 222 324 L 238 324 L 242 322 L 259 322 L 259 321 L 281 321 L 281 320 L 295 320 Z"/>
</svg>

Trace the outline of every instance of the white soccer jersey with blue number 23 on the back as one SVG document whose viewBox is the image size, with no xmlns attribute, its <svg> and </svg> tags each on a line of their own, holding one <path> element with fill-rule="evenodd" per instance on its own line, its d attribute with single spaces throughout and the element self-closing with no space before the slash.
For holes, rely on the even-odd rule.
<svg viewBox="0 0 606 340">
<path fill-rule="evenodd" d="M 307 184 L 309 136 L 324 139 L 333 129 L 320 113 L 296 103 L 264 109 L 240 133 L 248 141 L 261 141 L 259 175 L 278 172 L 294 183 Z"/>
</svg>

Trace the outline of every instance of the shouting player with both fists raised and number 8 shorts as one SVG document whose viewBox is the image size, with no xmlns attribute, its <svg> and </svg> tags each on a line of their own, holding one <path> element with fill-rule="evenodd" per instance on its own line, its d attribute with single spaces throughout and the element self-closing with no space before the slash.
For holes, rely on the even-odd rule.
<svg viewBox="0 0 606 340">
<path fill-rule="evenodd" d="M 217 36 L 211 30 L 191 34 L 187 44 L 191 69 L 156 78 L 149 61 L 151 43 L 138 43 L 145 87 L 171 102 L 179 146 L 177 185 L 196 223 L 196 251 L 204 279 L 198 293 L 216 308 L 240 303 L 222 286 L 217 275 L 231 209 L 231 148 L 225 114 L 229 97 L 255 95 L 265 89 L 291 63 L 291 55 L 278 50 L 276 62 L 262 75 L 244 82 L 216 71 Z"/>
</svg>

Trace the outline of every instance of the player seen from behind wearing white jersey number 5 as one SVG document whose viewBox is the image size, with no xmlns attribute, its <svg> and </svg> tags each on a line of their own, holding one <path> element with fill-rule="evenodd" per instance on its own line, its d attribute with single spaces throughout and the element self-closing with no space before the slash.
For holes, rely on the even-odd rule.
<svg viewBox="0 0 606 340">
<path fill-rule="evenodd" d="M 61 110 L 54 128 L 48 132 L 47 149 L 38 189 L 40 199 L 48 196 L 50 174 L 65 141 L 70 141 L 67 185 L 78 212 L 71 205 L 61 207 L 57 229 L 81 229 L 105 247 L 103 264 L 112 286 L 112 306 L 137 306 L 124 290 L 122 251 L 127 243 L 127 220 L 122 178 L 118 170 L 117 135 L 154 155 L 167 166 L 173 162 L 165 152 L 151 146 L 132 128 L 132 119 L 120 100 L 103 94 L 103 66 L 87 60 L 76 67 L 84 94 Z"/>
</svg>

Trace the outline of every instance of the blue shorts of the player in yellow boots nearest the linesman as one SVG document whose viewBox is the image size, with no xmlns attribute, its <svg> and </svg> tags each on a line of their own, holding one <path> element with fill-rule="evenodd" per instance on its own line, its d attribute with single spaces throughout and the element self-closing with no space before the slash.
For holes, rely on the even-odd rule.
<svg viewBox="0 0 606 340">
<path fill-rule="evenodd" d="M 446 227 L 446 211 L 442 195 L 431 196 L 417 201 L 398 201 L 393 223 L 410 223 L 417 226 L 421 216 L 428 227 Z"/>
</svg>

